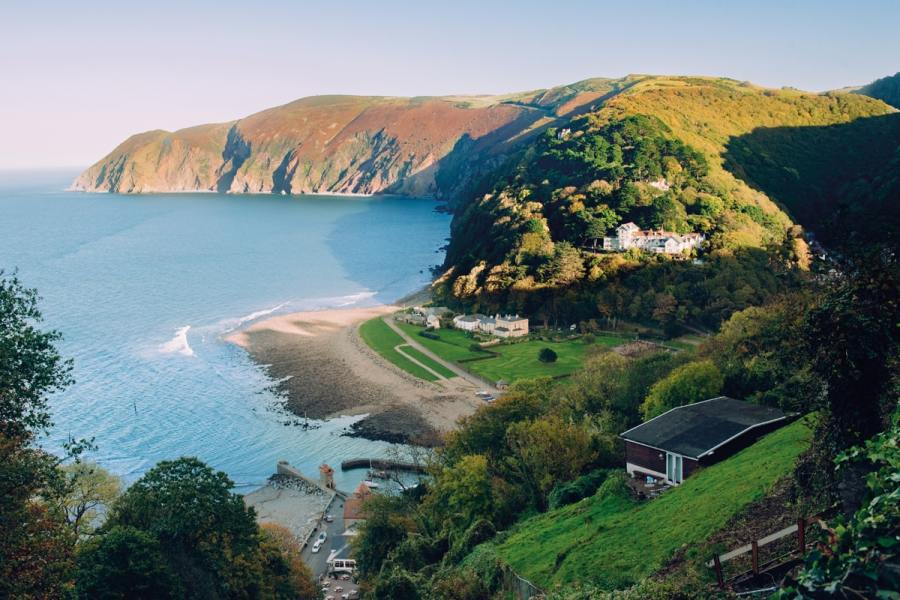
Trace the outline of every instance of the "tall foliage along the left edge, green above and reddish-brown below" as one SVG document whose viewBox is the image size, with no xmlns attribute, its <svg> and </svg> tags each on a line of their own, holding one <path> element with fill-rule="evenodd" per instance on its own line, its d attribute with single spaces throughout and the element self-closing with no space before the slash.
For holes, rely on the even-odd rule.
<svg viewBox="0 0 900 600">
<path fill-rule="evenodd" d="M 62 598 L 73 536 L 55 499 L 59 459 L 32 447 L 50 426 L 47 398 L 68 386 L 71 363 L 39 329 L 38 296 L 0 271 L 0 597 Z"/>
</svg>

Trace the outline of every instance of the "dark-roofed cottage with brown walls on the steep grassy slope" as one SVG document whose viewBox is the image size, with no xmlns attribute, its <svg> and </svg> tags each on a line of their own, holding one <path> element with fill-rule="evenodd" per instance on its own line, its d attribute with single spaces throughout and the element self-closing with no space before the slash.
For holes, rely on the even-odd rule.
<svg viewBox="0 0 900 600">
<path fill-rule="evenodd" d="M 651 476 L 677 485 L 786 422 L 777 408 L 726 396 L 679 406 L 620 435 L 625 440 L 625 468 L 632 477 Z"/>
</svg>

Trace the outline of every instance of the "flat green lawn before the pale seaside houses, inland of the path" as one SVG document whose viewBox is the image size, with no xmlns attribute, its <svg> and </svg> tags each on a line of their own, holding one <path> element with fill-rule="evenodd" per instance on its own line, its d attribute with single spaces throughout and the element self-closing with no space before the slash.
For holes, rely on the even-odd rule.
<svg viewBox="0 0 900 600">
<path fill-rule="evenodd" d="M 417 342 L 443 358 L 451 362 L 459 362 L 470 358 L 484 358 L 485 352 L 474 351 L 470 346 L 475 341 L 466 332 L 458 329 L 440 329 L 435 333 L 438 340 L 419 335 L 422 327 L 399 323 L 400 327 L 413 336 Z M 557 377 L 574 372 L 584 360 L 587 350 L 593 346 L 611 348 L 623 343 L 622 338 L 611 336 L 598 336 L 593 344 L 587 344 L 582 340 L 566 342 L 527 341 L 517 344 L 501 344 L 491 346 L 490 351 L 499 354 L 495 358 L 484 358 L 466 362 L 465 368 L 476 375 L 480 375 L 491 381 L 501 379 L 512 383 L 519 379 L 533 379 L 535 377 Z M 551 348 L 557 354 L 554 363 L 542 363 L 538 360 L 541 348 Z"/>
</svg>

